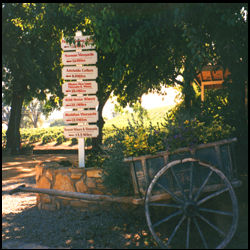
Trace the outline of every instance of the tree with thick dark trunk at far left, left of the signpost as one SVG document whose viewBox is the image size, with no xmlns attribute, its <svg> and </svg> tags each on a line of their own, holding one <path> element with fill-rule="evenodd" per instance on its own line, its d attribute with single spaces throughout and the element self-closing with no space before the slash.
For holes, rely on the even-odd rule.
<svg viewBox="0 0 250 250">
<path fill-rule="evenodd" d="M 11 105 L 7 149 L 20 150 L 20 120 L 24 101 L 47 99 L 45 108 L 59 106 L 60 33 L 47 22 L 44 4 L 2 3 L 2 88 Z"/>
</svg>

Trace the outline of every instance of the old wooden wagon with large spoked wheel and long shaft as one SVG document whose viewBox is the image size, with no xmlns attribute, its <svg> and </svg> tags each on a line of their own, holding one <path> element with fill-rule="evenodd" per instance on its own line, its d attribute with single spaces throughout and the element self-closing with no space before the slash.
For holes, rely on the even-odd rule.
<svg viewBox="0 0 250 250">
<path fill-rule="evenodd" d="M 148 227 L 162 248 L 224 248 L 238 224 L 233 187 L 237 139 L 126 158 L 134 197 L 93 195 L 21 186 L 11 193 L 46 193 L 87 200 L 143 204 Z"/>
</svg>

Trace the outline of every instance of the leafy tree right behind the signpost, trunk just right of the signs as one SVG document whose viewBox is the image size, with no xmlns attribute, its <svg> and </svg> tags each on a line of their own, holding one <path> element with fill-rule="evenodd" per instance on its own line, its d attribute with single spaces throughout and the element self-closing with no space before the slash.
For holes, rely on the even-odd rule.
<svg viewBox="0 0 250 250">
<path fill-rule="evenodd" d="M 180 29 L 173 32 L 168 4 L 63 4 L 60 9 L 68 20 L 63 27 L 59 24 L 66 37 L 76 30 L 94 35 L 100 103 L 100 134 L 94 144 L 98 145 L 104 125 L 102 109 L 111 93 L 126 106 L 149 90 L 160 89 L 161 83 L 177 81 L 182 56 L 175 43 Z"/>
</svg>

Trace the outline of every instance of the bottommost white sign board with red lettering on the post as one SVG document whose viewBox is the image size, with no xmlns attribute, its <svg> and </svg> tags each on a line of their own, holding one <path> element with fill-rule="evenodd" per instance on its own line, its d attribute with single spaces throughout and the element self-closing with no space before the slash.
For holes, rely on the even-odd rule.
<svg viewBox="0 0 250 250">
<path fill-rule="evenodd" d="M 66 138 L 97 137 L 98 134 L 99 129 L 96 125 L 64 127 L 64 136 Z"/>
</svg>

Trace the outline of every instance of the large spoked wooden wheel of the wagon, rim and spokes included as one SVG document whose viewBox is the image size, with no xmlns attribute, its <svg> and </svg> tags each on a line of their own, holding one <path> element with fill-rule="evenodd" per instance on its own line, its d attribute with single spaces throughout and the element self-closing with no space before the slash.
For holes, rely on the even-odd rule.
<svg viewBox="0 0 250 250">
<path fill-rule="evenodd" d="M 170 162 L 155 175 L 145 213 L 162 248 L 224 248 L 238 223 L 231 183 L 217 168 L 192 158 Z"/>
</svg>

